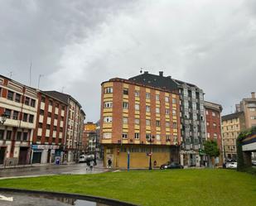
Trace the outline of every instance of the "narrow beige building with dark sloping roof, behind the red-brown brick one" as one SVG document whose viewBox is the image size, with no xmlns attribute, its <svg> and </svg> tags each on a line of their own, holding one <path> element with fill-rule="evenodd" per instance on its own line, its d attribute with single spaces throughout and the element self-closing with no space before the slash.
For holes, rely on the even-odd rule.
<svg viewBox="0 0 256 206">
<path fill-rule="evenodd" d="M 60 93 L 57 91 L 45 91 L 44 93 L 47 93 L 52 97 L 58 98 L 62 102 L 68 104 L 64 161 L 75 161 L 81 153 L 80 145 L 82 144 L 82 126 L 84 125 L 85 121 L 85 113 L 81 109 L 80 103 L 76 101 L 75 98 L 72 98 L 69 94 Z"/>
</svg>

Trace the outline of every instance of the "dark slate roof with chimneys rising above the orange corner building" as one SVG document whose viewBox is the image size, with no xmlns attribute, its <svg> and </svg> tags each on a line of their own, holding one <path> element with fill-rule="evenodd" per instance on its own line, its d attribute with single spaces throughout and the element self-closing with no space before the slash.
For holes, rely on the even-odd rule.
<svg viewBox="0 0 256 206">
<path fill-rule="evenodd" d="M 154 88 L 167 89 L 170 91 L 178 89 L 177 84 L 171 79 L 171 76 L 165 77 L 162 75 L 162 72 L 160 72 L 159 75 L 144 72 L 144 74 L 134 76 L 129 78 L 129 80 L 135 83 L 145 84 Z"/>
</svg>

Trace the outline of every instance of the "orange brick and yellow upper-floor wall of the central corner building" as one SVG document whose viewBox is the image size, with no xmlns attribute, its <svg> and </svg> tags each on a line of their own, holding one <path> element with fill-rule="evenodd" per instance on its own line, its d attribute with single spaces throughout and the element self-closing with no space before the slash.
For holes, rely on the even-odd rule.
<svg viewBox="0 0 256 206">
<path fill-rule="evenodd" d="M 109 88 L 113 91 L 107 93 Z M 145 146 L 149 145 L 147 137 L 152 136 L 154 146 L 179 145 L 181 143 L 179 102 L 177 93 L 133 84 L 126 80 L 105 82 L 102 84 L 101 143 L 105 148 L 128 144 Z M 127 103 L 128 108 L 123 108 L 123 104 Z M 105 107 L 105 105 L 111 106 Z M 167 158 L 163 159 L 165 162 L 170 160 L 170 153 L 167 154 L 169 154 Z M 115 153 L 105 153 L 105 161 L 108 156 L 116 157 Z M 137 156 L 138 160 L 143 160 L 144 165 L 148 165 L 147 158 L 141 158 L 138 152 L 131 156 L 134 159 Z M 145 153 L 142 156 L 145 156 Z M 123 156 L 120 155 L 118 158 L 118 166 L 123 167 L 125 165 Z M 132 163 L 131 167 L 139 167 L 143 164 L 138 161 Z"/>
</svg>

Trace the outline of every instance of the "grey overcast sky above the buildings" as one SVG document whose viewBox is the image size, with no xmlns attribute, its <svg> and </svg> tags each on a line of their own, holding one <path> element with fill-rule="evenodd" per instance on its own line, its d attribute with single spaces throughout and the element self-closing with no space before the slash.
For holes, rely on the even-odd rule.
<svg viewBox="0 0 256 206">
<path fill-rule="evenodd" d="M 32 64 L 31 64 L 32 62 Z M 0 0 L 0 74 L 64 90 L 97 121 L 100 84 L 140 68 L 198 85 L 224 114 L 256 91 L 254 0 Z"/>
</svg>

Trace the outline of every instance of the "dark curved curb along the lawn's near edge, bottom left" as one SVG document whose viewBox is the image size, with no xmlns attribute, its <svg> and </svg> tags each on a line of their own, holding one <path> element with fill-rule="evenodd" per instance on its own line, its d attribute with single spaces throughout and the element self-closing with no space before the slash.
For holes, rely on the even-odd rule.
<svg viewBox="0 0 256 206">
<path fill-rule="evenodd" d="M 12 189 L 12 188 L 0 188 L 0 192 L 11 192 L 18 194 L 41 194 L 48 195 L 51 197 L 60 197 L 60 198 L 70 198 L 70 199 L 82 199 L 87 201 L 94 201 L 100 204 L 109 204 L 113 206 L 138 206 L 138 204 L 130 204 L 127 202 L 122 202 L 117 199 L 106 199 L 97 196 L 83 195 L 83 194 L 68 194 L 68 193 L 58 193 L 58 192 L 47 192 L 39 190 L 30 190 L 30 189 Z"/>
</svg>

